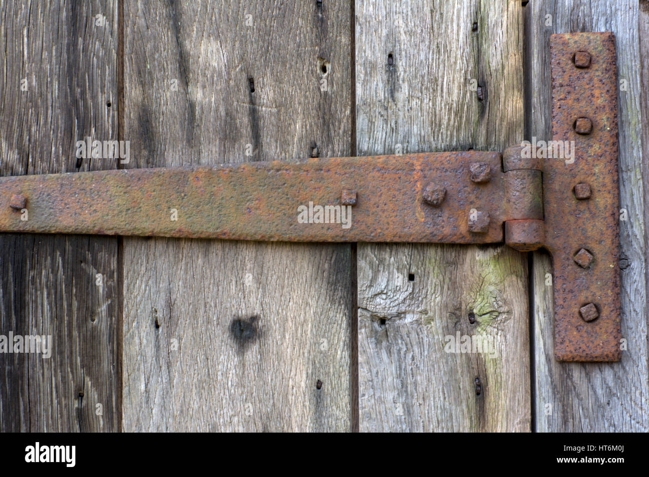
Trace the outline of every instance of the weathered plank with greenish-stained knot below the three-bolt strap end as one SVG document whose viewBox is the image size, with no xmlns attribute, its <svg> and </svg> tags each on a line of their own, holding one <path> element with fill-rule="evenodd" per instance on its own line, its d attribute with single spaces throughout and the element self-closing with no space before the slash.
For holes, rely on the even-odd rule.
<svg viewBox="0 0 649 477">
<path fill-rule="evenodd" d="M 356 2 L 358 154 L 503 151 L 523 136 L 522 6 Z M 528 431 L 526 255 L 358 246 L 360 429 Z M 491 354 L 447 352 L 486 337 Z"/>
</svg>

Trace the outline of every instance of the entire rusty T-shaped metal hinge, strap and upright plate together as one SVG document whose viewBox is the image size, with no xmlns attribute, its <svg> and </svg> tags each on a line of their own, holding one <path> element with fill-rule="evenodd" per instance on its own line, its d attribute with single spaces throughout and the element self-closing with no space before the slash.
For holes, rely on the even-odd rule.
<svg viewBox="0 0 649 477">
<path fill-rule="evenodd" d="M 551 142 L 503 154 L 3 177 L 0 231 L 545 247 L 554 261 L 556 358 L 617 361 L 615 40 L 553 35 L 550 49 Z"/>
</svg>

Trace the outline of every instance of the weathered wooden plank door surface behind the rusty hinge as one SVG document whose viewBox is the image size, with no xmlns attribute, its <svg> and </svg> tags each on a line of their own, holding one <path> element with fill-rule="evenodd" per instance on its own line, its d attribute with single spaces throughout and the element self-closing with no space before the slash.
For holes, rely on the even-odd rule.
<svg viewBox="0 0 649 477">
<path fill-rule="evenodd" d="M 0 235 L 3 431 L 649 429 L 646 0 L 0 1 L 0 175 L 503 151 L 550 136 L 548 39 L 613 31 L 619 363 L 552 355 L 503 245 Z M 130 162 L 75 143 L 130 141 Z M 495 337 L 492 356 L 445 337 Z"/>
</svg>

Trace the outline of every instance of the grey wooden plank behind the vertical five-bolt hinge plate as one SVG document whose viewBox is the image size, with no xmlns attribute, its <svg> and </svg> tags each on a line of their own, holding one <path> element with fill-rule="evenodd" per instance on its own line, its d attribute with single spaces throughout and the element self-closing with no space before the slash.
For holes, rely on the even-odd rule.
<svg viewBox="0 0 649 477">
<path fill-rule="evenodd" d="M 551 25 L 546 24 L 550 20 Z M 620 221 L 622 336 L 627 350 L 619 363 L 554 360 L 554 302 L 552 287 L 545 284 L 546 273 L 551 273 L 552 267 L 547 254 L 533 254 L 534 408 L 535 430 L 539 432 L 646 432 L 649 428 L 638 22 L 638 2 L 632 0 L 531 0 L 526 6 L 526 132 L 530 140 L 532 136 L 547 140 L 552 133 L 550 34 L 615 33 L 620 80 L 620 204 L 628 211 L 628 220 Z"/>
</svg>

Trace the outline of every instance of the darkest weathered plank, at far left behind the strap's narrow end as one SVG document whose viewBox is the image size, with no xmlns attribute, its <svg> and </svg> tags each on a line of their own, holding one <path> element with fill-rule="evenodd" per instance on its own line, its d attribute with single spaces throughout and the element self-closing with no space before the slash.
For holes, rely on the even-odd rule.
<svg viewBox="0 0 649 477">
<path fill-rule="evenodd" d="M 117 3 L 3 2 L 0 49 L 0 174 L 116 167 L 75 143 L 117 139 Z M 119 430 L 116 260 L 116 238 L 0 236 L 0 334 L 52 340 L 0 354 L 2 432 Z"/>
</svg>

